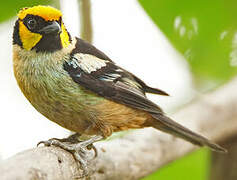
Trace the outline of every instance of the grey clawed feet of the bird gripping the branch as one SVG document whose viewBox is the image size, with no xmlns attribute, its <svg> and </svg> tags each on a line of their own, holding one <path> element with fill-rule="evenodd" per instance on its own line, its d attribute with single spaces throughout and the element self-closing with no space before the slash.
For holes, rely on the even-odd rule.
<svg viewBox="0 0 237 180">
<path fill-rule="evenodd" d="M 88 154 L 88 150 L 93 149 L 95 152 L 95 157 L 97 156 L 97 150 L 94 147 L 93 143 L 104 139 L 103 136 L 98 135 L 94 136 L 88 140 L 80 141 L 78 140 L 79 134 L 73 134 L 68 138 L 64 139 L 56 139 L 52 138 L 48 141 L 41 141 L 39 144 L 44 144 L 45 146 L 57 146 L 66 151 L 69 151 L 73 154 L 73 157 L 80 162 L 81 169 L 83 170 L 83 176 L 87 176 L 89 174 L 88 164 L 91 160 Z"/>
</svg>

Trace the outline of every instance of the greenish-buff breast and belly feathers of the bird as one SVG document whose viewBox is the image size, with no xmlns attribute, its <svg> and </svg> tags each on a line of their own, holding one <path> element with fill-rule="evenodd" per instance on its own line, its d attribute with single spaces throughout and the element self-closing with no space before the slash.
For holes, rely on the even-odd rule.
<svg viewBox="0 0 237 180">
<path fill-rule="evenodd" d="M 18 84 L 30 103 L 50 120 L 74 130 L 75 121 L 83 127 L 96 118 L 94 106 L 104 98 L 71 79 L 63 69 L 67 59 L 68 56 L 57 59 L 53 55 L 42 55 L 22 59 L 25 62 L 14 66 Z"/>
</svg>

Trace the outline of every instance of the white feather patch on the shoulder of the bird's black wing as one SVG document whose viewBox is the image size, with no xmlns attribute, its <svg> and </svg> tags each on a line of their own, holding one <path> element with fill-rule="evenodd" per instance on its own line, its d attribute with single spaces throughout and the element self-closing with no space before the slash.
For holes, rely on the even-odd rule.
<svg viewBox="0 0 237 180">
<path fill-rule="evenodd" d="M 77 53 L 73 56 L 77 61 L 74 61 L 76 66 L 79 66 L 84 72 L 90 74 L 106 66 L 109 61 L 102 60 L 90 54 Z"/>
</svg>

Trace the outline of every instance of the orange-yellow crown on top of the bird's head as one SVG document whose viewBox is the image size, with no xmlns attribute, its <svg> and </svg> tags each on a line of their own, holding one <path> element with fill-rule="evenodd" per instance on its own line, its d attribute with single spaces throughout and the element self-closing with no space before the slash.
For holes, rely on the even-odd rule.
<svg viewBox="0 0 237 180">
<path fill-rule="evenodd" d="M 44 18 L 46 21 L 53 21 L 53 20 L 59 20 L 59 18 L 62 16 L 62 13 L 51 7 L 51 6 L 34 6 L 31 8 L 23 8 L 19 11 L 18 17 L 20 19 L 24 19 L 26 15 L 32 14 L 35 16 L 40 16 Z"/>
</svg>

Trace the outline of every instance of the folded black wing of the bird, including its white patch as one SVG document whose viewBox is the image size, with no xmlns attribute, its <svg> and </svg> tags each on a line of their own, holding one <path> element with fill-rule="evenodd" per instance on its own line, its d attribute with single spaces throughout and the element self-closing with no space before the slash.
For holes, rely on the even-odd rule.
<svg viewBox="0 0 237 180">
<path fill-rule="evenodd" d="M 153 113 L 163 113 L 148 100 L 131 73 L 111 61 L 77 53 L 65 61 L 64 69 L 74 82 L 112 101 Z"/>
</svg>

